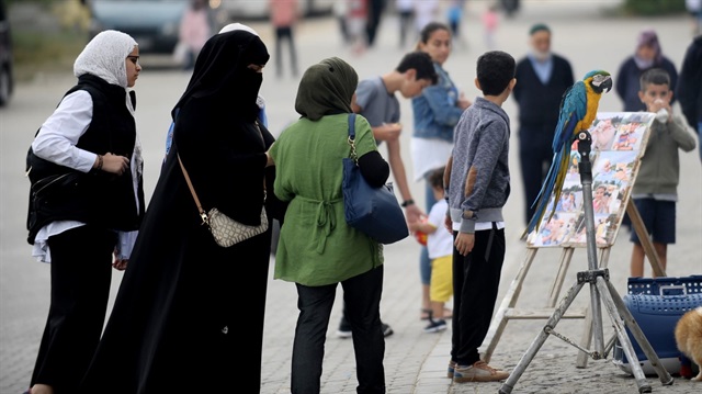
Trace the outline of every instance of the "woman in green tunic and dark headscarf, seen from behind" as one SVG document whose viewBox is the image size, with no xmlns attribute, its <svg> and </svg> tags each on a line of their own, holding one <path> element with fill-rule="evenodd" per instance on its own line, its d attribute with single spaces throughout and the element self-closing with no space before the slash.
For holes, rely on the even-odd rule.
<svg viewBox="0 0 702 394">
<path fill-rule="evenodd" d="M 319 393 L 329 316 L 337 284 L 343 288 L 353 328 L 358 393 L 385 393 L 380 301 L 383 246 L 346 223 L 342 159 L 349 157 L 349 114 L 355 70 L 332 57 L 309 67 L 299 82 L 299 120 L 269 151 L 275 162 L 275 195 L 290 202 L 275 255 L 275 279 L 295 282 L 299 316 L 292 360 L 292 393 Z M 377 151 L 367 121 L 355 120 L 359 167 L 380 187 L 389 166 Z"/>
</svg>

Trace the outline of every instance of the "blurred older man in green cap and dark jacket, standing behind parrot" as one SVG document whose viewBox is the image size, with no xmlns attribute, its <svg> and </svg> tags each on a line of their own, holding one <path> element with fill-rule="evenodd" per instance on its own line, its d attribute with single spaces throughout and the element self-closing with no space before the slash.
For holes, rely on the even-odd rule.
<svg viewBox="0 0 702 394">
<path fill-rule="evenodd" d="M 553 159 L 553 135 L 558 123 L 563 93 L 575 82 L 570 63 L 551 52 L 551 30 L 531 27 L 531 50 L 517 64 L 512 97 L 519 106 L 519 158 L 524 184 L 524 223 L 534 214 L 539 195 Z"/>
</svg>

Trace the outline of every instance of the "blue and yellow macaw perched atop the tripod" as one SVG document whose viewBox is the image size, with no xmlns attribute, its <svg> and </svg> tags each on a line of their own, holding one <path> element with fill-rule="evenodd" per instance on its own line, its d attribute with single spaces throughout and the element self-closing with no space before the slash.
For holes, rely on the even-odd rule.
<svg viewBox="0 0 702 394">
<path fill-rule="evenodd" d="M 590 128 L 592 121 L 597 116 L 597 109 L 600 104 L 600 97 L 612 89 L 612 76 L 604 70 L 592 70 L 585 75 L 582 80 L 575 82 L 563 95 L 561 101 L 561 112 L 558 124 L 553 137 L 553 161 L 546 175 L 546 180 L 541 187 L 536 201 L 532 206 L 536 211 L 532 216 L 522 238 L 526 237 L 534 229 L 539 229 L 546 207 L 551 201 L 551 194 L 555 191 L 555 200 L 561 198 L 561 189 L 568 172 L 570 160 L 570 146 L 580 131 Z M 554 214 L 555 203 L 551 207 L 548 219 Z"/>
</svg>

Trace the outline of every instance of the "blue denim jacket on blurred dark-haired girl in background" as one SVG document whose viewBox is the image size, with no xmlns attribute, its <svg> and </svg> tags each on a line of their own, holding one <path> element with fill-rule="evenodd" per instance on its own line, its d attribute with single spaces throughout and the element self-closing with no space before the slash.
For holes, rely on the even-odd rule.
<svg viewBox="0 0 702 394">
<path fill-rule="evenodd" d="M 424 88 L 420 95 L 412 99 L 412 136 L 453 143 L 453 127 L 463 113 L 463 110 L 456 106 L 458 89 L 441 65 L 434 63 L 434 69 L 439 76 L 437 83 Z"/>
</svg>

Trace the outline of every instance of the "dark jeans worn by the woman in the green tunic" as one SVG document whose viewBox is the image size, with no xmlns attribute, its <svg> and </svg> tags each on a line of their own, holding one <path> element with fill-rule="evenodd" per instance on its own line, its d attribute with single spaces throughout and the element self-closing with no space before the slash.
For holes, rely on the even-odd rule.
<svg viewBox="0 0 702 394">
<path fill-rule="evenodd" d="M 321 363 L 329 315 L 337 283 L 324 286 L 297 286 L 297 326 L 293 342 L 292 393 L 319 393 Z M 381 327 L 383 266 L 341 282 L 347 318 L 353 331 L 356 393 L 385 393 L 385 338 Z"/>
</svg>

